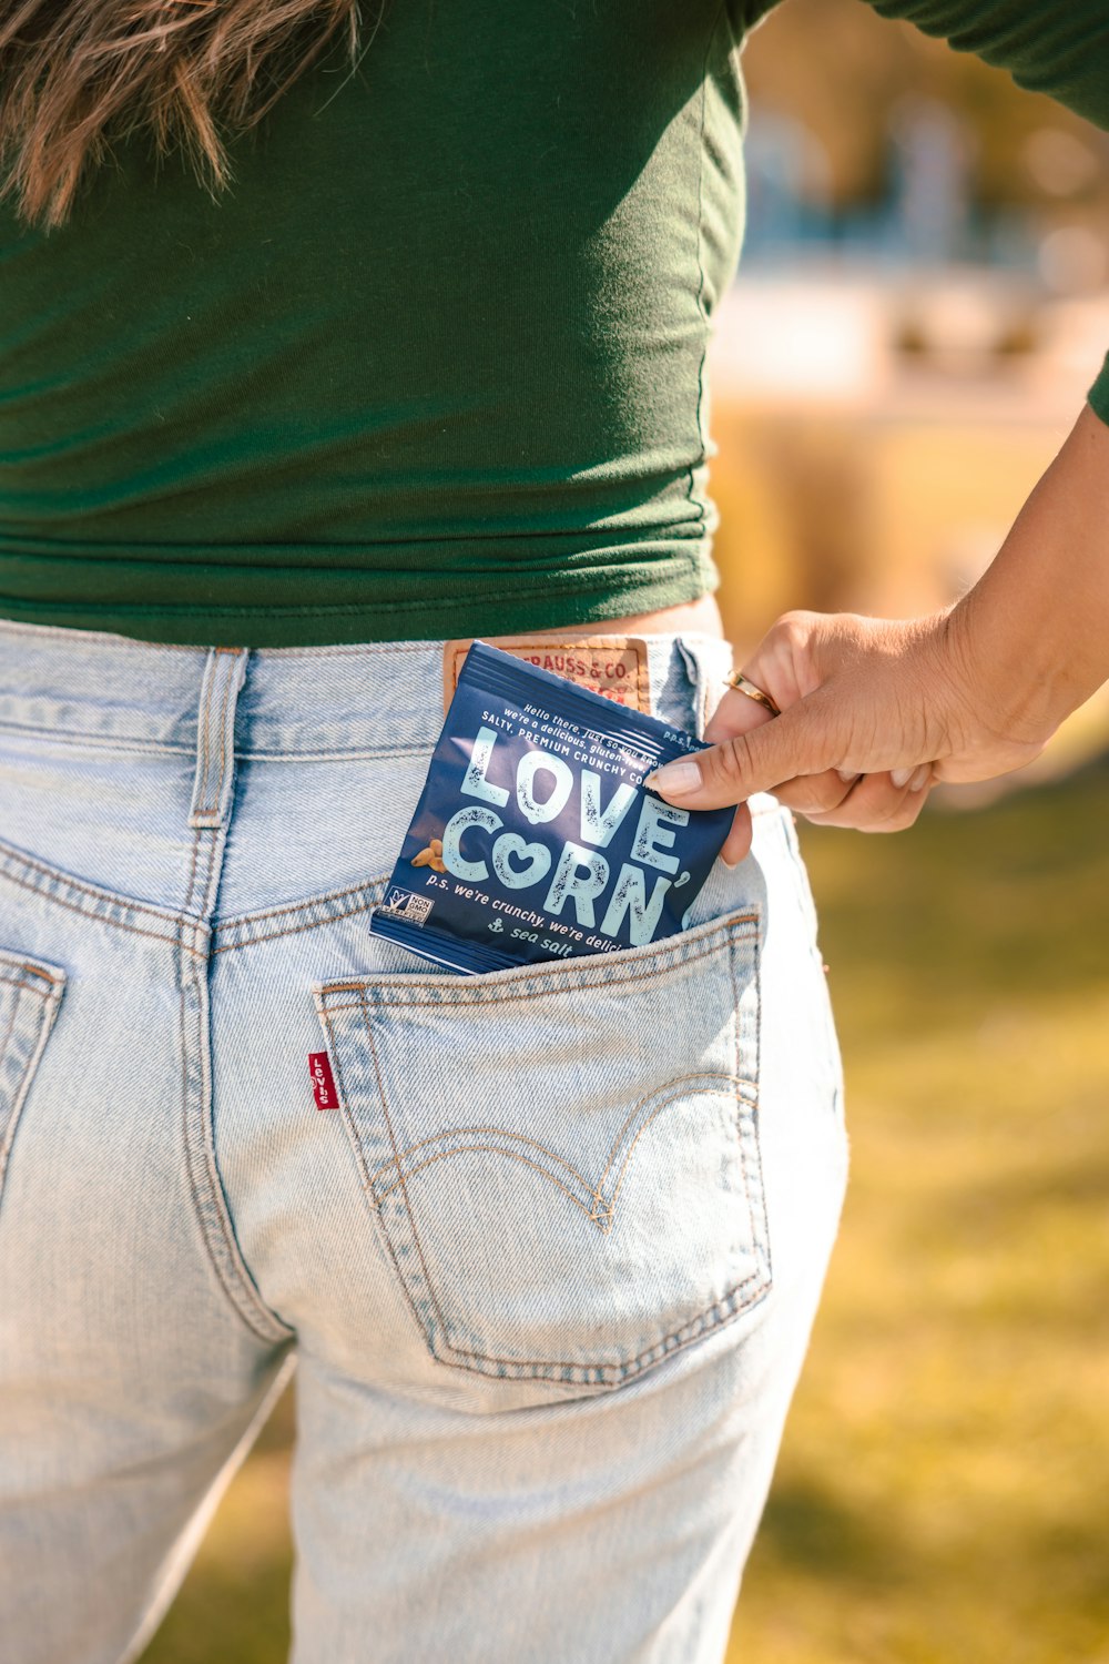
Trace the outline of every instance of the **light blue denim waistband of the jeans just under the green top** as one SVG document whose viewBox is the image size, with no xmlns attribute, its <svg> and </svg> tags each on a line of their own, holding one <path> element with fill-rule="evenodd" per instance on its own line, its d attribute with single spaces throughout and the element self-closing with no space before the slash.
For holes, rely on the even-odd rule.
<svg viewBox="0 0 1109 1664">
<path fill-rule="evenodd" d="M 647 644 L 652 712 L 703 735 L 732 669 L 728 644 L 633 639 Z M 0 727 L 195 752 L 205 672 L 221 651 L 0 619 Z M 234 651 L 246 659 L 236 757 L 382 757 L 436 742 L 442 641 Z"/>
</svg>

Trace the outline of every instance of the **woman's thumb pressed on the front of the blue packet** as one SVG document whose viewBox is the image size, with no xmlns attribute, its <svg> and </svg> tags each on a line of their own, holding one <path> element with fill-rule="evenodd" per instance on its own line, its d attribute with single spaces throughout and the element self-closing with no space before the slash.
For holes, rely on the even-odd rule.
<svg viewBox="0 0 1109 1664">
<path fill-rule="evenodd" d="M 803 699 L 773 722 L 668 762 L 655 769 L 645 784 L 683 809 L 720 809 L 742 804 L 755 792 L 771 792 L 798 774 L 821 774 L 840 759 L 823 732 L 815 704 Z"/>
</svg>

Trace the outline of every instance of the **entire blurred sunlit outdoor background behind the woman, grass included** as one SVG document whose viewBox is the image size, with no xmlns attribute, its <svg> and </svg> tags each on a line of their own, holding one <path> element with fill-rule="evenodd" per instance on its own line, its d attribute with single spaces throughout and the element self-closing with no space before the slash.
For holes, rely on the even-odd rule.
<svg viewBox="0 0 1109 1664">
<path fill-rule="evenodd" d="M 740 649 L 973 582 L 1109 348 L 1107 135 L 860 0 L 790 0 L 743 68 L 712 378 Z M 801 827 L 853 1185 L 728 1664 L 1109 1664 L 1107 749 L 1102 691 L 909 834 Z M 148 1664 L 284 1661 L 293 1414 Z"/>
</svg>

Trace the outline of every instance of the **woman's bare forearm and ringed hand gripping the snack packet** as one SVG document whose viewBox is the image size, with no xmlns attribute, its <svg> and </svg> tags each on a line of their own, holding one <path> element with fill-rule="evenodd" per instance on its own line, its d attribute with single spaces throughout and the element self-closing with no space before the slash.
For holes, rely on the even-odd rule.
<svg viewBox="0 0 1109 1664">
<path fill-rule="evenodd" d="M 713 749 L 652 777 L 668 802 L 715 809 L 770 790 L 825 825 L 896 832 L 934 780 L 1031 762 L 1109 676 L 1109 424 L 1082 408 L 956 606 L 909 621 L 790 612 L 743 672 L 781 716 L 725 694 Z M 723 859 L 748 847 L 742 807 Z"/>
</svg>

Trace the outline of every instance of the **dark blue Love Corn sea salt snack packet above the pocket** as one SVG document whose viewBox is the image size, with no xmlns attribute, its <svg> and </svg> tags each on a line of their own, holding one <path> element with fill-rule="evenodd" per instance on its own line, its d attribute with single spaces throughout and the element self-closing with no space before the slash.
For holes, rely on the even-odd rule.
<svg viewBox="0 0 1109 1664">
<path fill-rule="evenodd" d="M 643 779 L 705 749 L 476 641 L 371 932 L 469 975 L 675 935 L 735 809 Z"/>
</svg>

